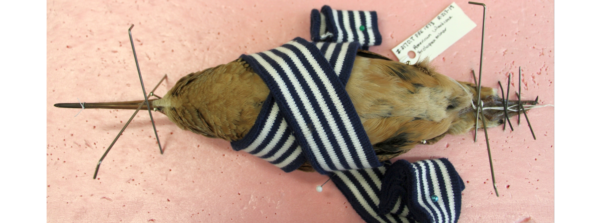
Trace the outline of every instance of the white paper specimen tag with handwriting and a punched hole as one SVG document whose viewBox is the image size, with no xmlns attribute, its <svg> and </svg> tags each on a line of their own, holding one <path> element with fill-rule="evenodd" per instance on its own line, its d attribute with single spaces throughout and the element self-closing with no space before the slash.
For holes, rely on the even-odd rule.
<svg viewBox="0 0 601 223">
<path fill-rule="evenodd" d="M 392 52 L 401 63 L 415 64 L 426 57 L 433 60 L 474 27 L 476 23 L 453 2 L 430 23 L 392 48 Z"/>
</svg>

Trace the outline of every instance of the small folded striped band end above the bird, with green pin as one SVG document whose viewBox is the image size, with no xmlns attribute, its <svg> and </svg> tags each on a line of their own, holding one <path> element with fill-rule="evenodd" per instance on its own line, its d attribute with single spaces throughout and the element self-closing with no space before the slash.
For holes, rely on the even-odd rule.
<svg viewBox="0 0 601 223">
<path fill-rule="evenodd" d="M 311 40 L 334 43 L 358 42 L 361 48 L 382 43 L 375 11 L 332 10 L 311 11 Z"/>
</svg>

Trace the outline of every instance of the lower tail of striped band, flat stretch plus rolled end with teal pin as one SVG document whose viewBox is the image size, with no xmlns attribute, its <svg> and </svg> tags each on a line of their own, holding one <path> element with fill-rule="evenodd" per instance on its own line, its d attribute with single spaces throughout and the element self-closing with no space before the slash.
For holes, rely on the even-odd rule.
<svg viewBox="0 0 601 223">
<path fill-rule="evenodd" d="M 459 219 L 463 180 L 447 159 L 335 171 L 332 181 L 365 222 L 452 222 Z"/>
</svg>

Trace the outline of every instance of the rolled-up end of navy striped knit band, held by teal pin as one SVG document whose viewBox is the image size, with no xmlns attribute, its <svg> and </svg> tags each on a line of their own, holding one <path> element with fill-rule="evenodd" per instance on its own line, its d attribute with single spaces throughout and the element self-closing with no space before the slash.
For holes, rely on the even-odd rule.
<svg viewBox="0 0 601 223">
<path fill-rule="evenodd" d="M 400 206 L 418 222 L 457 222 L 463 189 L 463 180 L 447 159 L 398 160 L 383 179 L 379 212 L 390 212 L 400 197 Z"/>
</svg>

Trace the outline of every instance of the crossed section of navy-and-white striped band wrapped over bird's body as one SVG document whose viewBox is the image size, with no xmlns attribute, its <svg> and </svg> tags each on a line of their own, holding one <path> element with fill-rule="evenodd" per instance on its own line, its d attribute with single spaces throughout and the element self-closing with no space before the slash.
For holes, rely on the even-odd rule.
<svg viewBox="0 0 601 223">
<path fill-rule="evenodd" d="M 255 126 L 231 142 L 234 150 L 284 171 L 302 165 L 301 154 L 321 174 L 381 166 L 345 89 L 358 47 L 297 37 L 276 49 L 242 55 L 271 92 Z"/>
</svg>

